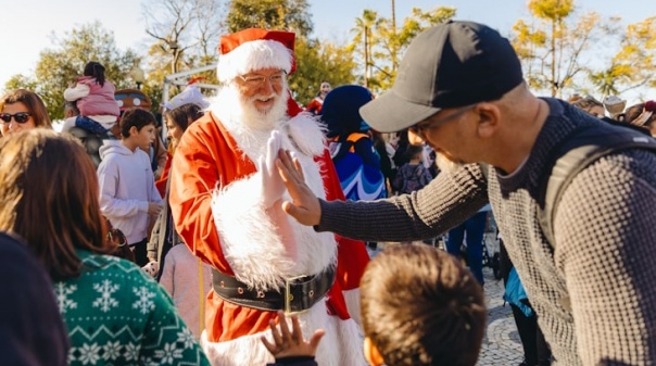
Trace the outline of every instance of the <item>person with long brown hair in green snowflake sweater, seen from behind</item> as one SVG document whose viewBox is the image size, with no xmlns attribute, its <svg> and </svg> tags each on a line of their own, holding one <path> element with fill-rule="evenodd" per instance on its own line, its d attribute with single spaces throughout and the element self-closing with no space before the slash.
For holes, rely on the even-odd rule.
<svg viewBox="0 0 656 366">
<path fill-rule="evenodd" d="M 164 289 L 105 255 L 115 247 L 98 187 L 73 136 L 33 129 L 0 139 L 0 230 L 22 237 L 50 274 L 70 365 L 209 365 Z"/>
</svg>

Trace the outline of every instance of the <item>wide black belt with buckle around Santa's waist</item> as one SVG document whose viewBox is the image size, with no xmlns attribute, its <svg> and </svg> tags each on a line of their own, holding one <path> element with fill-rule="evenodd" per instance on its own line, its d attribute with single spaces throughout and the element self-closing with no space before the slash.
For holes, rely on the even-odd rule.
<svg viewBox="0 0 656 366">
<path fill-rule="evenodd" d="M 212 268 L 214 292 L 225 301 L 262 311 L 299 313 L 321 300 L 335 282 L 335 267 L 313 276 L 288 278 L 285 286 L 272 291 L 250 289 L 232 276 Z"/>
</svg>

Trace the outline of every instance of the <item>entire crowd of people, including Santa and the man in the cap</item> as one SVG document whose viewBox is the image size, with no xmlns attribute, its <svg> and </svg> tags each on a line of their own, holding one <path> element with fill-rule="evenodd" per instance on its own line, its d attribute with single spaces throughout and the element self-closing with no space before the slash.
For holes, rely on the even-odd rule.
<svg viewBox="0 0 656 366">
<path fill-rule="evenodd" d="M 656 102 L 537 98 L 506 38 L 450 21 L 382 96 L 321 80 L 302 108 L 294 37 L 223 36 L 216 96 L 163 105 L 168 149 L 148 97 L 94 61 L 61 132 L 37 93 L 0 99 L 0 358 L 474 366 L 493 215 L 522 365 L 656 362 Z M 632 143 L 552 204 L 554 166 L 590 131 Z M 445 232 L 445 251 L 424 244 Z M 370 258 L 383 241 L 401 244 Z"/>
</svg>

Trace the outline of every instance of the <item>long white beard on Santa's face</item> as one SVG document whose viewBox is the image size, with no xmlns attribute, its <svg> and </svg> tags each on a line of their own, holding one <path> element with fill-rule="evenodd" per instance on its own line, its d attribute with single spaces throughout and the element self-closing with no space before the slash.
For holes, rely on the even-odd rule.
<svg viewBox="0 0 656 366">
<path fill-rule="evenodd" d="M 280 94 L 266 96 L 275 98 L 274 105 L 266 112 L 260 112 L 253 102 L 258 98 L 266 99 L 264 96 L 247 99 L 241 96 L 237 85 L 228 84 L 219 89 L 210 110 L 216 114 L 247 156 L 256 162 L 266 152 L 266 141 L 272 130 L 289 119 L 287 94 L 285 84 Z"/>
</svg>

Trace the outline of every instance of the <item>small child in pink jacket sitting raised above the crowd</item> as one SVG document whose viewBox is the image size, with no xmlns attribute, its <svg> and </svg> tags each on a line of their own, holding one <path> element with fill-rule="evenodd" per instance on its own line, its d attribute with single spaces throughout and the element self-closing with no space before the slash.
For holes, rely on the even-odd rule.
<svg viewBox="0 0 656 366">
<path fill-rule="evenodd" d="M 115 91 L 114 85 L 105 79 L 104 66 L 96 61 L 88 62 L 75 87 L 64 91 L 66 101 L 77 102 L 79 115 L 66 118 L 62 131 L 79 127 L 88 132 L 109 137 L 119 114 L 114 99 Z"/>
</svg>

